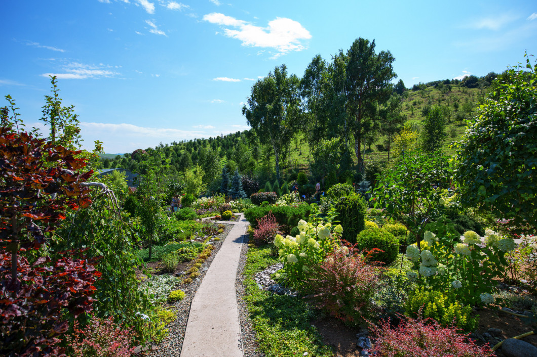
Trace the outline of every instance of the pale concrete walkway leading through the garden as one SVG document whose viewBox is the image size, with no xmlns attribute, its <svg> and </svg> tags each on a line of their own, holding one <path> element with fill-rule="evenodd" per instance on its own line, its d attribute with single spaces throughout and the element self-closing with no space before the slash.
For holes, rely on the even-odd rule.
<svg viewBox="0 0 537 357">
<path fill-rule="evenodd" d="M 243 357 L 235 290 L 248 221 L 241 214 L 192 299 L 181 357 Z"/>
</svg>

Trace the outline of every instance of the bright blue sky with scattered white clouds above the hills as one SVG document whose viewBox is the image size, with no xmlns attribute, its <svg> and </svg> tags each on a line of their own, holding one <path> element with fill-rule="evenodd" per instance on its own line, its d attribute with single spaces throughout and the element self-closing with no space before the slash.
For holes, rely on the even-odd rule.
<svg viewBox="0 0 537 357">
<path fill-rule="evenodd" d="M 107 153 L 244 130 L 242 103 L 275 66 L 302 76 L 358 37 L 398 79 L 483 76 L 537 55 L 535 1 L 3 1 L 0 94 L 39 124 L 49 74 L 84 147 Z M 396 80 L 398 80 L 396 79 Z M 0 103 L 5 105 L 6 102 Z"/>
</svg>

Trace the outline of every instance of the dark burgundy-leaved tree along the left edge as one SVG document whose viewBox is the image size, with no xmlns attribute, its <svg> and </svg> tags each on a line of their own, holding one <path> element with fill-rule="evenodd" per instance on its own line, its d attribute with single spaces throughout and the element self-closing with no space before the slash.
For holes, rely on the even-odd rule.
<svg viewBox="0 0 537 357">
<path fill-rule="evenodd" d="M 80 251 L 40 256 L 66 212 L 91 204 L 78 153 L 0 128 L 0 355 L 61 354 L 64 314 L 91 310 L 96 262 Z"/>
</svg>

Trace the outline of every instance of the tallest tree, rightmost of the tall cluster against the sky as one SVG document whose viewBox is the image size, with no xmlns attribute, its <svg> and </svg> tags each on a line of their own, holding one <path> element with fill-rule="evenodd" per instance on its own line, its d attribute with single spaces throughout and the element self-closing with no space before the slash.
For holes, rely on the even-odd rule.
<svg viewBox="0 0 537 357">
<path fill-rule="evenodd" d="M 347 51 L 346 91 L 347 111 L 354 136 L 354 153 L 361 169 L 364 167 L 360 147 L 364 134 L 376 121 L 376 106 L 386 102 L 392 88 L 390 81 L 397 77 L 390 51 L 375 54 L 375 40 L 358 38 Z"/>
</svg>

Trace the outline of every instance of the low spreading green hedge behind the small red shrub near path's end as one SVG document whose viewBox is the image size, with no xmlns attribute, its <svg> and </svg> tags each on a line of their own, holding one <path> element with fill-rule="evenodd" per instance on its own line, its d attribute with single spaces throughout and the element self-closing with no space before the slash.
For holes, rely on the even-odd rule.
<svg viewBox="0 0 537 357">
<path fill-rule="evenodd" d="M 307 204 L 301 204 L 298 207 L 289 206 L 263 206 L 253 207 L 244 212 L 244 217 L 250 222 L 253 228 L 257 228 L 257 219 L 265 217 L 272 212 L 276 221 L 281 225 L 284 232 L 291 232 L 293 227 L 299 223 L 301 219 L 306 220 L 311 213 L 311 207 Z"/>
</svg>

